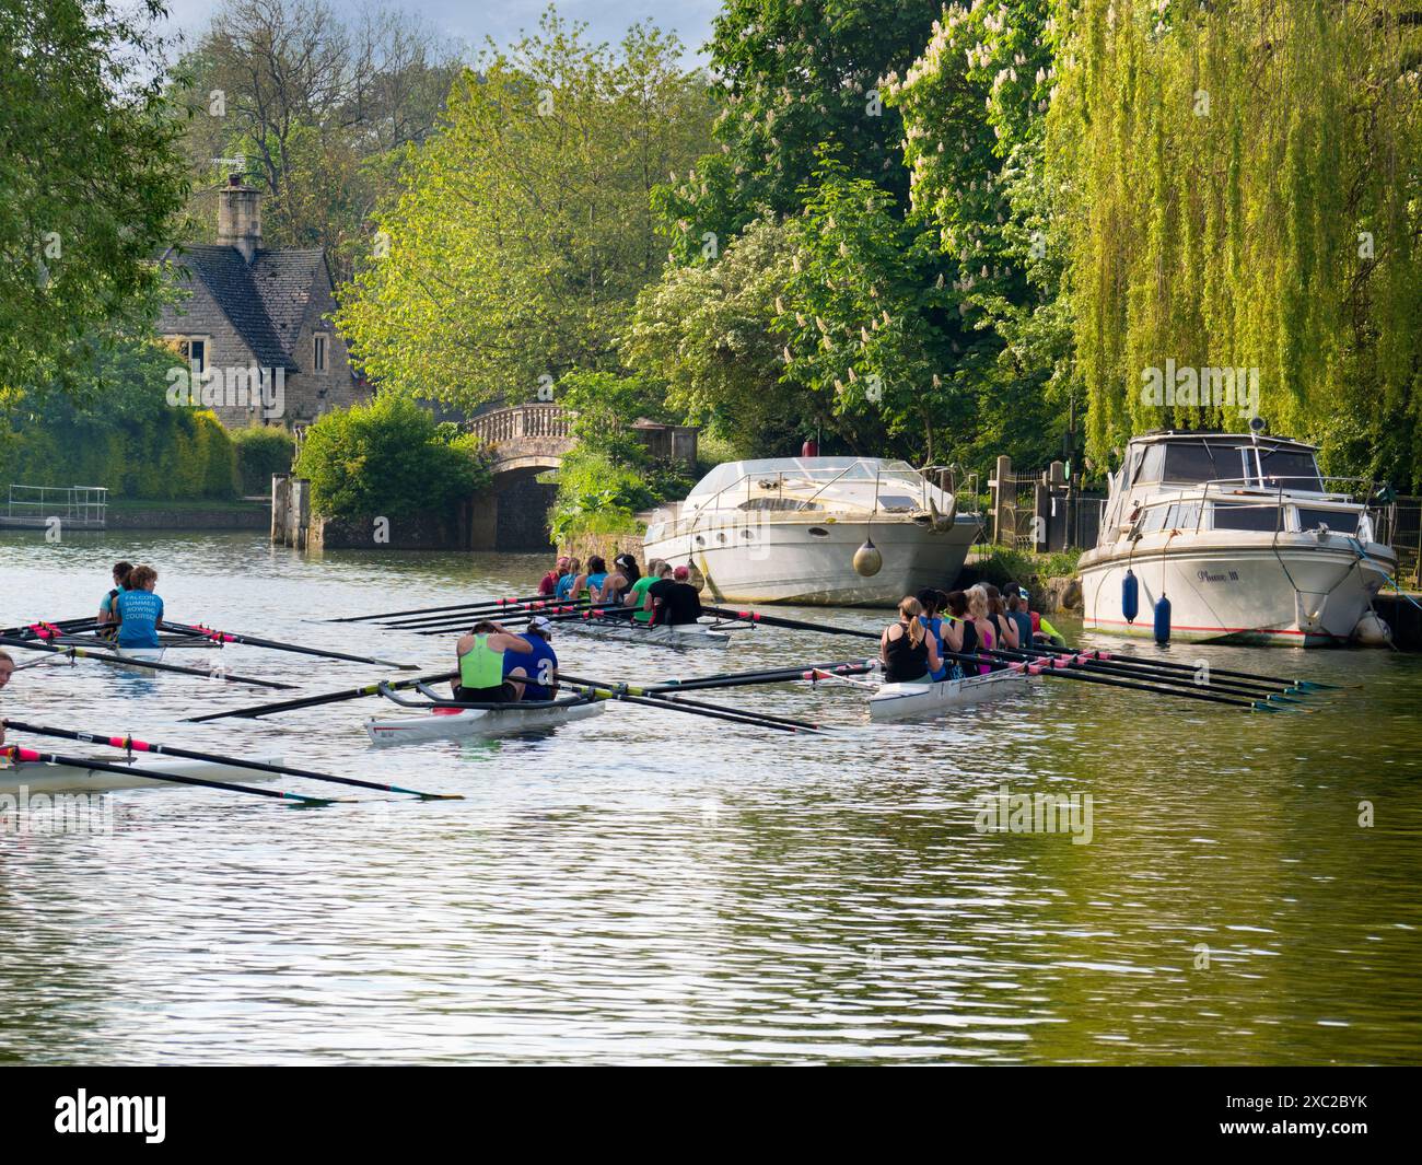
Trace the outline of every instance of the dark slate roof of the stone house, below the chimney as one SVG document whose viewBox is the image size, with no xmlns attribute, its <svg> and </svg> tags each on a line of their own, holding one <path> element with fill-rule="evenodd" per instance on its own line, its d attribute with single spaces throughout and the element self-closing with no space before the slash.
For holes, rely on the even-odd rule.
<svg viewBox="0 0 1422 1165">
<path fill-rule="evenodd" d="M 326 262 L 319 248 L 259 250 L 250 266 L 236 248 L 213 243 L 169 248 L 162 257 L 203 282 L 262 367 L 300 371 L 292 347 Z"/>
</svg>

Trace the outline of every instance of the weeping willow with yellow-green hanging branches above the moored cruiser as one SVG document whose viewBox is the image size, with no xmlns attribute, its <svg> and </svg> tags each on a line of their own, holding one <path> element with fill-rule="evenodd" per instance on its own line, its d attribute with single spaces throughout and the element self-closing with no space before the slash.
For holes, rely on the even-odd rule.
<svg viewBox="0 0 1422 1165">
<path fill-rule="evenodd" d="M 1047 164 L 1088 455 L 1163 427 L 1149 370 L 1257 370 L 1274 432 L 1422 484 L 1422 0 L 1062 0 Z M 1241 377 L 1247 383 L 1247 377 Z"/>
</svg>

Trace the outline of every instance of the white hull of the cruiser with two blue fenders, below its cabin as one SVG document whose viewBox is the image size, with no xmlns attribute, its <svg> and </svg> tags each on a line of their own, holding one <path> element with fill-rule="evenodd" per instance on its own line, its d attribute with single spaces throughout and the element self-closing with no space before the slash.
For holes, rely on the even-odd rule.
<svg viewBox="0 0 1422 1165">
<path fill-rule="evenodd" d="M 1271 647 L 1341 646 L 1352 639 L 1374 596 L 1396 569 L 1385 546 L 1365 548 L 1361 559 L 1344 539 L 1318 542 L 1293 535 L 1276 545 L 1142 546 L 1132 558 L 1091 552 L 1082 556 L 1085 627 L 1138 639 L 1153 636 L 1153 610 L 1170 600 L 1170 639 Z M 1133 570 L 1139 613 L 1122 612 L 1122 582 Z"/>
</svg>

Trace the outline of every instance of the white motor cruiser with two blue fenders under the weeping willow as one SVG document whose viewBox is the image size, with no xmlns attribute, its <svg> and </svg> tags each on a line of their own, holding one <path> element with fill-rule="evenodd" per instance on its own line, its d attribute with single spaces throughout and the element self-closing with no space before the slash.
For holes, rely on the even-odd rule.
<svg viewBox="0 0 1422 1165">
<path fill-rule="evenodd" d="M 1398 559 L 1371 484 L 1344 485 L 1300 441 L 1135 438 L 1078 566 L 1086 627 L 1297 647 L 1385 637 L 1371 606 Z"/>
</svg>

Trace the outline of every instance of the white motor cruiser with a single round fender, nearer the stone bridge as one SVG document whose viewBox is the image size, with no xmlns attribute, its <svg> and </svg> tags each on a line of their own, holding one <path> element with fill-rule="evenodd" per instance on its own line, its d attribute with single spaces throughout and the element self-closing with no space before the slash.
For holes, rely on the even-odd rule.
<svg viewBox="0 0 1422 1165">
<path fill-rule="evenodd" d="M 717 600 L 894 606 L 957 578 L 981 519 L 954 509 L 906 461 L 728 461 L 658 512 L 644 552 L 695 566 Z"/>
</svg>

